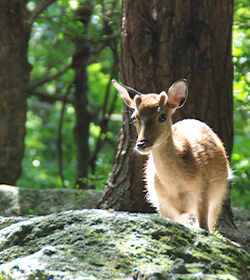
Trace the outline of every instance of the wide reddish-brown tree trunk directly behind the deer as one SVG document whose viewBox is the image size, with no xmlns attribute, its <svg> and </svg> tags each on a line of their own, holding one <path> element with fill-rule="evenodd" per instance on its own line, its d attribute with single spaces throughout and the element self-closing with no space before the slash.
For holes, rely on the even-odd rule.
<svg viewBox="0 0 250 280">
<path fill-rule="evenodd" d="M 188 100 L 173 121 L 204 121 L 222 139 L 229 156 L 233 147 L 232 22 L 233 0 L 122 1 L 122 82 L 143 93 L 159 93 L 186 78 Z M 129 124 L 130 115 L 124 108 L 111 176 L 99 207 L 150 211 L 143 192 L 145 158 L 133 152 L 136 133 Z M 230 199 L 226 205 L 224 218 L 232 223 Z"/>
</svg>

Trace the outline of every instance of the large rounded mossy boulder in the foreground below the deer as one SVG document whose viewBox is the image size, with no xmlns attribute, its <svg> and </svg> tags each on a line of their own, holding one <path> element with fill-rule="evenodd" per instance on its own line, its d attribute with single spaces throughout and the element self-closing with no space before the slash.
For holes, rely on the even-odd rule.
<svg viewBox="0 0 250 280">
<path fill-rule="evenodd" d="M 0 279 L 250 279 L 246 251 L 158 214 L 75 210 L 0 228 Z"/>
</svg>

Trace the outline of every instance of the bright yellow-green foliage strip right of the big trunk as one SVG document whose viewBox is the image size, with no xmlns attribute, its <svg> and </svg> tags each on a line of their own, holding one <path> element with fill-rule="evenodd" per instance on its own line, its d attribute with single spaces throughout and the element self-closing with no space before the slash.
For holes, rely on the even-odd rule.
<svg viewBox="0 0 250 280">
<path fill-rule="evenodd" d="M 232 154 L 235 205 L 250 207 L 250 9 L 248 1 L 236 1 L 233 26 L 234 150 Z"/>
</svg>

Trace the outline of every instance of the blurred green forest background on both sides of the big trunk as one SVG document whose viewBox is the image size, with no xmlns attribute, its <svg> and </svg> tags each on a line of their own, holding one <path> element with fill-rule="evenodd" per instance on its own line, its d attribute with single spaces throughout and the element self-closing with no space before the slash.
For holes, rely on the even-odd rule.
<svg viewBox="0 0 250 280">
<path fill-rule="evenodd" d="M 35 10 L 37 3 L 29 1 L 27 9 Z M 111 86 L 113 78 L 119 79 L 120 9 L 117 0 L 62 0 L 35 19 L 28 47 L 32 70 L 18 186 L 104 188 L 122 121 L 122 100 Z M 232 204 L 245 208 L 250 208 L 249 18 L 248 1 L 235 0 L 231 194 Z M 85 116 L 84 123 L 79 124 L 80 116 Z M 80 141 L 79 125 L 85 127 Z"/>
</svg>

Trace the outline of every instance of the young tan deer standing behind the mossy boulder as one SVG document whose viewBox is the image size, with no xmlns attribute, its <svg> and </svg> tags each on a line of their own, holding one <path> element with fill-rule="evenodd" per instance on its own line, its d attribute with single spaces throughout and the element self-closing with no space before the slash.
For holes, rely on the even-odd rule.
<svg viewBox="0 0 250 280">
<path fill-rule="evenodd" d="M 212 231 L 228 193 L 230 167 L 222 142 L 203 122 L 194 119 L 172 125 L 171 116 L 187 98 L 186 80 L 168 93 L 141 94 L 113 80 L 138 133 L 135 149 L 149 155 L 146 164 L 148 200 L 164 216 Z"/>
</svg>

